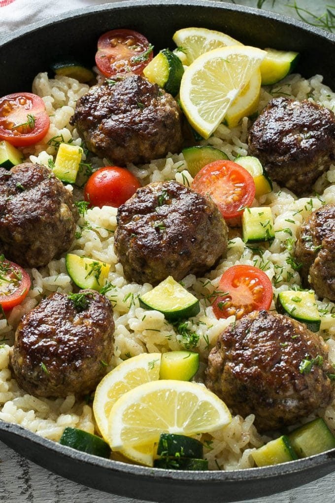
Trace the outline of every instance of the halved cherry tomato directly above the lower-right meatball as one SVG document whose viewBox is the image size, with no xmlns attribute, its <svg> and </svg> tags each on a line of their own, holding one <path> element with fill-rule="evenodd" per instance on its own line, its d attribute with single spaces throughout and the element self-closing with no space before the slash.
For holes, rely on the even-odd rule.
<svg viewBox="0 0 335 503">
<path fill-rule="evenodd" d="M 219 282 L 219 295 L 212 308 L 216 318 L 270 309 L 273 290 L 268 276 L 257 267 L 238 265 L 227 269 Z"/>
</svg>

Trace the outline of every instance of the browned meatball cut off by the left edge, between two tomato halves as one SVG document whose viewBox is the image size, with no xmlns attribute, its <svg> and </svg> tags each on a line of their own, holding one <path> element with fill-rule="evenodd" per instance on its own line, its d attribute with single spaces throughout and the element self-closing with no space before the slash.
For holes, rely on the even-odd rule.
<svg viewBox="0 0 335 503">
<path fill-rule="evenodd" d="M 45 266 L 71 246 L 77 217 L 71 193 L 47 167 L 0 168 L 0 250 L 7 259 Z"/>
</svg>

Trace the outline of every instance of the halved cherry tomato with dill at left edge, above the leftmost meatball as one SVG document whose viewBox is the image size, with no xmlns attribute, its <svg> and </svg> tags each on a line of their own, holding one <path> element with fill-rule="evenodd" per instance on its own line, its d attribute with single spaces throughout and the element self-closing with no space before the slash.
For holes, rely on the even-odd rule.
<svg viewBox="0 0 335 503">
<path fill-rule="evenodd" d="M 50 125 L 44 101 L 32 93 L 14 93 L 0 98 L 0 140 L 24 147 L 47 134 Z"/>
</svg>

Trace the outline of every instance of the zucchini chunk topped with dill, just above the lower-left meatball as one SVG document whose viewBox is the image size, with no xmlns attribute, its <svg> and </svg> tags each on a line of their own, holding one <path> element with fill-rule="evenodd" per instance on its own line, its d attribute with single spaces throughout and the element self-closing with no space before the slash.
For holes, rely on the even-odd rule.
<svg viewBox="0 0 335 503">
<path fill-rule="evenodd" d="M 110 264 L 66 254 L 65 266 L 68 275 L 79 288 L 90 288 L 99 292 L 108 277 Z"/>
</svg>

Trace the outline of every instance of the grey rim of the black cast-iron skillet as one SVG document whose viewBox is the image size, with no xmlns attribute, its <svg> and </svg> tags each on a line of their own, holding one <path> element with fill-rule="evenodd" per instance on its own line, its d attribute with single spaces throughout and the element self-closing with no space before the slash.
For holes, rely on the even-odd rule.
<svg viewBox="0 0 335 503">
<path fill-rule="evenodd" d="M 260 11 L 259 9 L 246 7 L 236 4 L 228 4 L 225 2 L 213 2 L 210 0 L 179 0 L 174 2 L 171 6 L 169 0 L 124 0 L 121 2 L 102 4 L 98 6 L 76 9 L 73 11 L 68 11 L 58 16 L 49 17 L 45 20 L 35 22 L 24 28 L 20 28 L 12 33 L 6 34 L 3 41 L 0 42 L 0 48 L 11 44 L 12 42 L 20 39 L 21 37 L 27 35 L 32 31 L 38 31 L 45 29 L 48 26 L 54 24 L 60 24 L 64 20 L 75 20 L 82 16 L 87 16 L 88 14 L 103 13 L 105 11 L 115 11 L 119 9 L 131 9 L 149 6 L 190 6 L 190 7 L 204 7 L 204 8 L 219 8 L 226 11 L 239 11 L 241 13 L 246 13 L 248 15 L 257 16 L 261 18 L 266 18 L 270 20 L 275 20 L 280 23 L 284 23 L 287 26 L 298 27 L 305 32 L 312 33 L 321 37 L 322 39 L 327 39 L 335 44 L 335 34 L 327 32 L 325 30 L 316 28 L 307 23 L 304 23 L 295 18 L 290 18 L 288 16 L 282 16 L 271 11 Z M 253 481 L 257 479 L 278 477 L 282 475 L 287 475 L 289 473 L 300 473 L 308 469 L 319 468 L 322 465 L 334 463 L 335 462 L 335 448 L 329 451 L 310 456 L 308 458 L 302 458 L 295 461 L 290 461 L 287 463 L 282 463 L 279 465 L 272 465 L 260 468 L 246 468 L 234 471 L 196 471 L 190 472 L 186 470 L 167 470 L 144 467 L 134 464 L 123 463 L 116 460 L 108 460 L 104 458 L 99 458 L 87 453 L 76 451 L 74 449 L 68 448 L 66 446 L 61 446 L 59 443 L 40 437 L 39 435 L 19 426 L 16 424 L 6 423 L 0 420 L 0 440 L 6 443 L 7 433 L 14 434 L 17 437 L 21 437 L 31 441 L 35 445 L 39 445 L 53 451 L 60 455 L 64 455 L 72 460 L 82 461 L 86 465 L 94 465 L 98 467 L 104 467 L 108 469 L 113 469 L 115 472 L 120 472 L 124 474 L 132 474 L 143 476 L 146 478 L 155 478 L 157 475 L 159 478 L 166 480 L 178 480 L 181 482 L 189 482 L 196 478 L 200 483 L 205 482 L 238 482 L 238 481 Z M 17 450 L 17 452 L 20 452 Z M 330 471 L 330 470 L 329 470 Z"/>
</svg>

